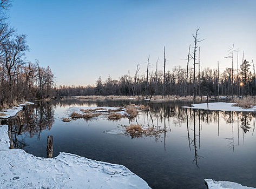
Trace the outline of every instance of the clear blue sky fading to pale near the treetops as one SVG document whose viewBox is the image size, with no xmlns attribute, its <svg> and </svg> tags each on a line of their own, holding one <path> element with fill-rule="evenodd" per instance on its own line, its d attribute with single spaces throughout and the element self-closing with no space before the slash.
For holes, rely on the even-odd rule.
<svg viewBox="0 0 256 189">
<path fill-rule="evenodd" d="M 247 60 L 256 62 L 256 1 L 166 0 L 14 0 L 9 22 L 18 34 L 26 34 L 27 60 L 50 66 L 56 85 L 95 84 L 101 76 L 119 79 L 147 70 L 186 68 L 192 33 L 200 27 L 202 68 L 232 68 L 228 48 L 234 43 Z M 237 68 L 235 53 L 234 68 Z M 192 67 L 192 61 L 189 65 Z"/>
</svg>

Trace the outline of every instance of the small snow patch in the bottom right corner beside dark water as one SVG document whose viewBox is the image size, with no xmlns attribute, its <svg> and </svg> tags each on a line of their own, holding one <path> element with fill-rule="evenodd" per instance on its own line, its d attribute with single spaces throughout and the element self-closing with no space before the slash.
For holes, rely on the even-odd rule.
<svg viewBox="0 0 256 189">
<path fill-rule="evenodd" d="M 252 187 L 242 186 L 238 183 L 229 181 L 215 181 L 212 179 L 205 179 L 209 189 L 253 189 Z M 255 188 L 254 188 L 255 189 Z"/>
</svg>

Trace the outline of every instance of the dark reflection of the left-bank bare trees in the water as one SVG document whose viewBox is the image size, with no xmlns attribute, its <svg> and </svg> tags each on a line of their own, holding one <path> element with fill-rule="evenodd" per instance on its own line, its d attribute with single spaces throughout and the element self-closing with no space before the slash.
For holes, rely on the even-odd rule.
<svg viewBox="0 0 256 189">
<path fill-rule="evenodd" d="M 50 130 L 54 123 L 54 111 L 49 102 L 39 102 L 23 107 L 20 118 L 17 116 L 8 120 L 11 137 L 16 149 L 23 149 L 26 144 L 21 134 L 35 135 L 40 138 L 42 130 Z"/>
</svg>

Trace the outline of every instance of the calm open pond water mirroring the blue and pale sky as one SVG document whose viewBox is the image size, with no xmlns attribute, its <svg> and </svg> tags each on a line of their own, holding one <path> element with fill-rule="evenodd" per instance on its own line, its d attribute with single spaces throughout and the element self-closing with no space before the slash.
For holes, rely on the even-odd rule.
<svg viewBox="0 0 256 189">
<path fill-rule="evenodd" d="M 255 113 L 209 111 L 207 115 L 207 111 L 195 110 L 194 133 L 194 111 L 180 107 L 190 103 L 152 103 L 150 114 L 140 112 L 137 123 L 152 125 L 153 120 L 154 126 L 163 128 L 166 125 L 171 131 L 166 133 L 166 138 L 165 133 L 160 134 L 157 140 L 154 137 L 131 139 L 125 135 L 104 133 L 121 125 L 129 125 L 128 119 L 116 122 L 106 118 L 77 119 L 69 123 L 61 121 L 62 117 L 67 117 L 70 106 L 123 104 L 127 102 L 52 102 L 52 109 L 49 109 L 50 104 L 44 107 L 55 113 L 51 129 L 42 130 L 40 137 L 39 132 L 30 137 L 27 129 L 22 136 L 18 136 L 18 140 L 23 139 L 27 144 L 25 151 L 45 157 L 47 136 L 52 135 L 54 156 L 59 152 L 70 152 L 122 164 L 146 180 L 152 188 L 206 188 L 204 178 L 256 187 Z M 170 107 L 175 107 L 174 112 L 169 111 Z M 246 133 L 241 128 L 242 124 L 244 131 L 246 126 L 250 127 Z"/>
</svg>

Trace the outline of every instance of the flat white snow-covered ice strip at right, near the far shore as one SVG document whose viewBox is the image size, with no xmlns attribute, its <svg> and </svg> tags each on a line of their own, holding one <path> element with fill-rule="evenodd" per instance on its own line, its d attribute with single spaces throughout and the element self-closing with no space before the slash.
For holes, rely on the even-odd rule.
<svg viewBox="0 0 256 189">
<path fill-rule="evenodd" d="M 235 103 L 208 103 L 209 110 L 220 110 L 220 111 L 245 111 L 245 112 L 251 112 L 256 111 L 256 106 L 250 108 L 250 109 L 243 109 L 238 106 L 233 106 Z M 191 106 L 183 106 L 186 108 L 191 109 L 204 109 L 207 110 L 207 103 L 201 103 L 201 104 L 192 104 Z"/>
</svg>

